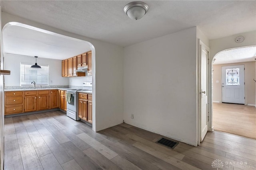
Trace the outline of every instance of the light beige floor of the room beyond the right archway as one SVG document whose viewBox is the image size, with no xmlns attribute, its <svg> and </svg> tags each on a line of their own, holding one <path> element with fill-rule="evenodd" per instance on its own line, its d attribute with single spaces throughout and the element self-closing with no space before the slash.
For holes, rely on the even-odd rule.
<svg viewBox="0 0 256 170">
<path fill-rule="evenodd" d="M 256 139 L 256 107 L 213 103 L 214 130 Z"/>
</svg>

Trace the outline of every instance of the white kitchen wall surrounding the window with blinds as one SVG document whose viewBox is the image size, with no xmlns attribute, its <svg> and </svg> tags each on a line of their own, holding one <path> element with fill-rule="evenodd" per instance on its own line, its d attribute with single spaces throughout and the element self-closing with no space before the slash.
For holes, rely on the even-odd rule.
<svg viewBox="0 0 256 170">
<path fill-rule="evenodd" d="M 4 68 L 11 71 L 10 76 L 5 76 L 5 86 L 20 86 L 20 63 L 30 63 L 34 65 L 36 62 L 34 57 L 26 57 L 19 55 L 4 55 Z M 65 86 L 68 85 L 68 78 L 62 77 L 62 61 L 51 59 L 37 59 L 37 64 L 49 65 L 49 86 Z M 33 84 L 31 85 L 33 86 Z"/>
</svg>

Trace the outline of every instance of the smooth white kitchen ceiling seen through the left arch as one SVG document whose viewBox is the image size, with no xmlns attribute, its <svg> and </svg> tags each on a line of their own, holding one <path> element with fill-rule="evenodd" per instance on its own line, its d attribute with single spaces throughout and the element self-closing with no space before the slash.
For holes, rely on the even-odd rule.
<svg viewBox="0 0 256 170">
<path fill-rule="evenodd" d="M 90 51 L 86 41 L 12 25 L 3 31 L 4 53 L 63 60 Z"/>
</svg>

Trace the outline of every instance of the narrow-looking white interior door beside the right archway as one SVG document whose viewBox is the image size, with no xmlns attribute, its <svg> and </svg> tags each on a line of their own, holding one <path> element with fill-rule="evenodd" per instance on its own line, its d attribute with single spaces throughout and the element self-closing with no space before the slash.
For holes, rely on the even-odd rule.
<svg viewBox="0 0 256 170">
<path fill-rule="evenodd" d="M 208 70 L 208 50 L 204 45 L 200 45 L 201 62 L 200 62 L 200 80 L 201 80 L 201 92 L 200 92 L 200 117 L 201 117 L 201 141 L 203 141 L 208 131 L 208 89 L 207 89 L 207 70 Z"/>
</svg>

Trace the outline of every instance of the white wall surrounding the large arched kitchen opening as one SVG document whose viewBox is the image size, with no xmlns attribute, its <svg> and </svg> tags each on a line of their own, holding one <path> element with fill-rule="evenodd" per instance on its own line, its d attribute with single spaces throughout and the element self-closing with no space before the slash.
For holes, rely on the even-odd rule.
<svg viewBox="0 0 256 170">
<path fill-rule="evenodd" d="M 2 26 L 20 22 L 92 43 L 93 108 L 92 129 L 100 131 L 123 121 L 123 55 L 124 48 L 2 12 Z"/>
</svg>

